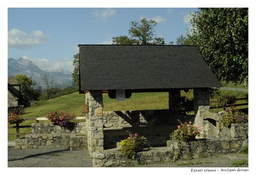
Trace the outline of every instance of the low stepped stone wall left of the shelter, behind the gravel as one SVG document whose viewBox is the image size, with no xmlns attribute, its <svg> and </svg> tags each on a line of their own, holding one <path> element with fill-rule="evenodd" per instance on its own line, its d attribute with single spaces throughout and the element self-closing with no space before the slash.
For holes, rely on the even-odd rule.
<svg viewBox="0 0 256 175">
<path fill-rule="evenodd" d="M 32 134 L 15 140 L 15 148 L 88 149 L 86 122 L 71 122 L 68 128 L 53 123 L 32 123 Z"/>
</svg>

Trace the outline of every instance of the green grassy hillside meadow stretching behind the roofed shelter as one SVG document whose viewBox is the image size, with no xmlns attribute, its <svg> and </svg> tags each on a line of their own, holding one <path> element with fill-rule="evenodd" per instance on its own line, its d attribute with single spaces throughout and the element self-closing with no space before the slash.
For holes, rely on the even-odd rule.
<svg viewBox="0 0 256 175">
<path fill-rule="evenodd" d="M 221 94 L 233 94 L 237 98 L 246 97 L 247 92 L 236 92 L 221 90 Z M 188 98 L 193 97 L 193 90 L 187 93 L 181 91 L 182 96 Z M 85 105 L 85 94 L 79 94 L 78 92 L 63 95 L 61 97 L 49 99 L 46 101 L 36 101 L 35 105 L 25 109 L 25 114 L 22 115 L 26 118 L 45 117 L 45 115 L 51 111 L 65 110 L 69 113 L 75 113 L 76 116 L 84 116 L 82 111 Z M 103 94 L 103 110 L 104 111 L 125 111 L 125 110 L 158 110 L 168 109 L 168 92 L 148 92 L 148 93 L 133 93 L 131 98 L 125 99 L 125 101 L 116 101 L 116 99 L 109 98 L 108 94 Z M 239 108 L 248 108 L 239 107 Z M 211 112 L 218 112 L 222 109 L 212 110 Z M 193 113 L 190 113 L 193 114 Z M 82 120 L 79 120 L 82 121 Z M 42 120 L 40 122 L 50 122 L 49 120 Z M 35 120 L 27 120 L 20 123 L 20 126 L 30 125 L 35 123 Z M 14 124 L 9 124 L 14 126 Z M 21 128 L 20 133 L 29 133 L 31 128 Z M 16 129 L 8 129 L 8 133 L 16 133 Z M 24 136 L 20 136 L 24 137 Z M 8 136 L 8 140 L 15 140 L 16 136 Z"/>
</svg>

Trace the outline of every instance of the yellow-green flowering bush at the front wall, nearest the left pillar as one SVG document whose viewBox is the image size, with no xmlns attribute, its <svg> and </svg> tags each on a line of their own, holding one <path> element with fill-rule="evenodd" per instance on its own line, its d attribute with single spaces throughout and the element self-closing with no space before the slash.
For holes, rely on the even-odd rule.
<svg viewBox="0 0 256 175">
<path fill-rule="evenodd" d="M 127 158 L 134 158 L 136 149 L 141 150 L 143 148 L 149 148 L 150 144 L 144 136 L 139 136 L 137 133 L 129 133 L 129 137 L 121 140 L 117 145 L 121 145 L 121 153 L 123 153 Z"/>
</svg>

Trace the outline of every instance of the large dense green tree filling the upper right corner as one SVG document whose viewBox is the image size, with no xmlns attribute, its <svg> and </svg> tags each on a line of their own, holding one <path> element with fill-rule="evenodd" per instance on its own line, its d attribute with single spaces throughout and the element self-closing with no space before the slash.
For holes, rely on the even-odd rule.
<svg viewBox="0 0 256 175">
<path fill-rule="evenodd" d="M 188 44 L 198 46 L 219 80 L 248 81 L 248 8 L 199 9 L 191 14 Z"/>
</svg>

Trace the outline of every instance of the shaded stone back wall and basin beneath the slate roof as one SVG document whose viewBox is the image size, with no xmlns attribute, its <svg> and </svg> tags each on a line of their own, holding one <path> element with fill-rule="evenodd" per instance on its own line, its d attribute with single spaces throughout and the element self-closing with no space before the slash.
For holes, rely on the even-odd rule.
<svg viewBox="0 0 256 175">
<path fill-rule="evenodd" d="M 170 133 L 177 129 L 178 120 L 194 122 L 194 115 L 175 114 L 170 110 L 103 112 L 104 149 L 115 148 L 129 132 L 147 138 L 152 146 L 166 145 Z"/>
</svg>

